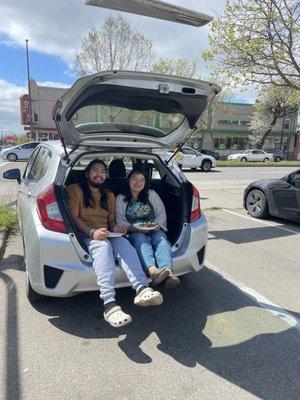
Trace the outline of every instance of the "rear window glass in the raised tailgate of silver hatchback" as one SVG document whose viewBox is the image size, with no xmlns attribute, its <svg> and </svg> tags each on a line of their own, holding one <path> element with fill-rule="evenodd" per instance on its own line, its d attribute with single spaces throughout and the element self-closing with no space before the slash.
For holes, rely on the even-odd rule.
<svg viewBox="0 0 300 400">
<path fill-rule="evenodd" d="M 80 108 L 72 122 L 80 133 L 127 132 L 163 137 L 178 128 L 181 114 L 155 110 L 132 110 L 124 107 L 91 105 Z"/>
</svg>

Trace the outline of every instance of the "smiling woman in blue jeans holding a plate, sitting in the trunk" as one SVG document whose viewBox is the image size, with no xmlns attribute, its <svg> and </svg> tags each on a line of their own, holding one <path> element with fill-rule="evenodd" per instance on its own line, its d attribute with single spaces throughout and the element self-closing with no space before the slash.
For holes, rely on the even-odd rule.
<svg viewBox="0 0 300 400">
<path fill-rule="evenodd" d="M 129 241 L 153 285 L 165 281 L 167 289 L 178 286 L 180 281 L 172 274 L 172 249 L 165 233 L 166 210 L 159 195 L 148 189 L 143 170 L 134 169 L 128 175 L 124 194 L 116 198 L 116 221 L 127 227 Z"/>
</svg>

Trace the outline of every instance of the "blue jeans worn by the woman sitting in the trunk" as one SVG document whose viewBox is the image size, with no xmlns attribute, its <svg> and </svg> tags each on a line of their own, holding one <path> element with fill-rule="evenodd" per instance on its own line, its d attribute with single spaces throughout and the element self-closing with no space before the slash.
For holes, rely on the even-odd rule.
<svg viewBox="0 0 300 400">
<path fill-rule="evenodd" d="M 158 268 L 172 267 L 172 248 L 161 229 L 149 233 L 132 232 L 129 241 L 136 249 L 144 271 L 151 265 Z"/>
</svg>

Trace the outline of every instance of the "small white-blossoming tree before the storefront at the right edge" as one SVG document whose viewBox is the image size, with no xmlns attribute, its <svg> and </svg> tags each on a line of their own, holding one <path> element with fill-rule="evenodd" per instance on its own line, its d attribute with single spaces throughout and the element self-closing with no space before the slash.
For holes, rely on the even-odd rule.
<svg viewBox="0 0 300 400">
<path fill-rule="evenodd" d="M 282 90 L 277 86 L 264 86 L 261 89 L 249 126 L 252 132 L 249 139 L 255 147 L 264 145 L 278 118 L 295 115 L 299 101 L 299 91 L 293 89 Z"/>
</svg>

